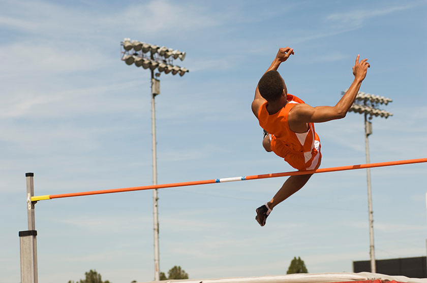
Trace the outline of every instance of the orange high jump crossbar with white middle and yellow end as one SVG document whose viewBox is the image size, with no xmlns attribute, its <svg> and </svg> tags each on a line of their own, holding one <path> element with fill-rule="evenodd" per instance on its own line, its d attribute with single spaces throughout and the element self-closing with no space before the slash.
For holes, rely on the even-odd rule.
<svg viewBox="0 0 427 283">
<path fill-rule="evenodd" d="M 232 178 L 211 179 L 211 180 L 202 180 L 202 181 L 149 185 L 149 186 L 142 186 L 142 187 L 88 191 L 88 192 L 80 192 L 80 193 L 33 196 L 33 197 L 31 197 L 31 201 L 47 200 L 47 199 L 53 199 L 53 198 L 75 197 L 75 196 L 87 196 L 87 195 L 99 195 L 99 194 L 110 194 L 110 193 L 131 192 L 131 191 L 153 190 L 153 189 L 172 188 L 172 187 L 195 186 L 195 185 L 215 184 L 215 183 L 225 183 L 225 182 L 235 182 L 235 181 L 246 181 L 246 180 L 255 180 L 255 179 L 277 178 L 277 177 L 284 177 L 284 176 L 307 175 L 307 174 L 315 174 L 315 173 L 325 173 L 325 172 L 354 170 L 354 169 L 365 169 L 365 168 L 384 167 L 384 166 L 393 166 L 393 165 L 404 165 L 404 164 L 423 163 L 423 162 L 427 162 L 427 158 L 387 161 L 387 162 L 379 162 L 379 163 L 358 164 L 358 165 L 339 166 L 339 167 L 330 167 L 330 168 L 320 168 L 320 169 L 316 169 L 316 170 L 307 170 L 307 171 L 290 171 L 290 172 L 270 173 L 270 174 L 250 175 L 250 176 L 239 176 L 239 177 L 232 177 Z"/>
</svg>

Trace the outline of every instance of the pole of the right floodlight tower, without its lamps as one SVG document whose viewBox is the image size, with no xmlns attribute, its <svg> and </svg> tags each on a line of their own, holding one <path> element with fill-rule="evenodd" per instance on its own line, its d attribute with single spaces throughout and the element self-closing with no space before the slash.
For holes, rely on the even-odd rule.
<svg viewBox="0 0 427 283">
<path fill-rule="evenodd" d="M 372 123 L 368 121 L 368 115 L 365 114 L 365 149 L 366 149 L 366 163 L 369 161 L 369 141 L 368 136 L 372 134 Z M 367 182 L 368 182 L 368 209 L 369 209 L 369 240 L 371 256 L 371 272 L 376 272 L 377 268 L 375 265 L 375 249 L 374 249 L 374 213 L 372 211 L 372 193 L 371 193 L 371 170 L 368 168 L 367 171 Z"/>
</svg>

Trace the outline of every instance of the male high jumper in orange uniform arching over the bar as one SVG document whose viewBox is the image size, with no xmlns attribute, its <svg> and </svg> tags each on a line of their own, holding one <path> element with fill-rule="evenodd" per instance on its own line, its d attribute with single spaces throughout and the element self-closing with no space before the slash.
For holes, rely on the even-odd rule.
<svg viewBox="0 0 427 283">
<path fill-rule="evenodd" d="M 288 94 L 285 81 L 277 69 L 294 54 L 290 47 L 280 48 L 276 58 L 259 80 L 252 102 L 252 112 L 264 129 L 262 145 L 268 152 L 285 159 L 299 171 L 317 169 L 320 166 L 320 139 L 314 131 L 314 123 L 342 119 L 356 98 L 366 77 L 368 59 L 359 62 L 357 55 L 353 66 L 354 81 L 335 106 L 311 107 L 298 97 Z M 256 209 L 255 219 L 261 226 L 271 210 L 297 192 L 309 181 L 312 174 L 290 176 L 276 195 Z"/>
</svg>

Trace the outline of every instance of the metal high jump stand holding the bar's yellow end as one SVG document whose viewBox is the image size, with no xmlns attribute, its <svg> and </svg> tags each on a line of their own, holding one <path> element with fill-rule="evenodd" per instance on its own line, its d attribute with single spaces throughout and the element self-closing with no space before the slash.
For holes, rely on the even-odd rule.
<svg viewBox="0 0 427 283">
<path fill-rule="evenodd" d="M 25 173 L 27 188 L 28 230 L 19 231 L 21 283 L 37 283 L 37 231 L 34 216 L 34 173 Z"/>
</svg>

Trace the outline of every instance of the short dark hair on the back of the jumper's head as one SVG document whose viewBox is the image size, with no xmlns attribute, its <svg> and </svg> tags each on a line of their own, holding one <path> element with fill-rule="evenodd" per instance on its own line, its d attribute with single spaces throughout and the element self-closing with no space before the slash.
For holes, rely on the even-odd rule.
<svg viewBox="0 0 427 283">
<path fill-rule="evenodd" d="M 258 90 L 267 101 L 277 100 L 283 93 L 284 85 L 282 77 L 277 70 L 270 70 L 261 77 Z"/>
</svg>

